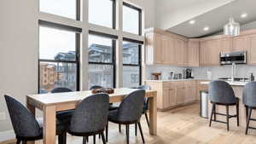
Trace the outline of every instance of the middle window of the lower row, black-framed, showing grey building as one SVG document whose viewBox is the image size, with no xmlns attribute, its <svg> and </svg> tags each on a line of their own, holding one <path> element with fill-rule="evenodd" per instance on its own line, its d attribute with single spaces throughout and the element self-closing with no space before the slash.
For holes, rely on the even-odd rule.
<svg viewBox="0 0 256 144">
<path fill-rule="evenodd" d="M 90 32 L 88 40 L 89 80 L 88 87 L 101 85 L 115 87 L 114 36 Z"/>
</svg>

